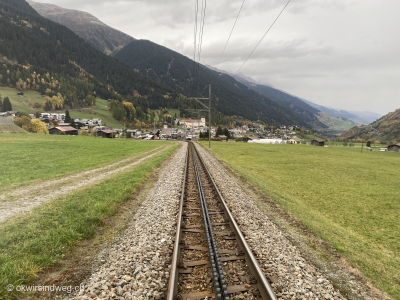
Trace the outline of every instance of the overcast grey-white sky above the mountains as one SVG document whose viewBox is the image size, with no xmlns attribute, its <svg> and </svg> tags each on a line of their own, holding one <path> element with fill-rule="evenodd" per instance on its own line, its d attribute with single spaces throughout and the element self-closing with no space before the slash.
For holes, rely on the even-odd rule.
<svg viewBox="0 0 400 300">
<path fill-rule="evenodd" d="M 35 1 L 86 11 L 193 59 L 195 1 Z M 287 1 L 246 0 L 218 68 L 236 73 Z M 201 63 L 217 65 L 242 2 L 207 1 Z M 241 73 L 329 107 L 394 111 L 400 108 L 399 12 L 398 0 L 292 0 Z"/>
</svg>

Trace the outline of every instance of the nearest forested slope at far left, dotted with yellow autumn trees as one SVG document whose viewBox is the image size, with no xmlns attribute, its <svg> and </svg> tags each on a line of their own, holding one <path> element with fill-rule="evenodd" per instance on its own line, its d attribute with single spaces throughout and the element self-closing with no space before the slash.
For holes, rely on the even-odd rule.
<svg viewBox="0 0 400 300">
<path fill-rule="evenodd" d="M 172 92 L 43 18 L 24 0 L 0 0 L 0 40 L 0 83 L 39 90 L 60 107 L 85 106 L 98 95 L 145 111 Z"/>
</svg>

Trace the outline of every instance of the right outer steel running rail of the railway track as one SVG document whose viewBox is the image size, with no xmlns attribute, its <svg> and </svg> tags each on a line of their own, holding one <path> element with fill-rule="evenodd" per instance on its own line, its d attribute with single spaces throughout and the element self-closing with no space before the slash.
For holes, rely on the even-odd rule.
<svg viewBox="0 0 400 300">
<path fill-rule="evenodd" d="M 218 197 L 223 205 L 223 208 L 225 210 L 225 215 L 227 216 L 229 223 L 231 224 L 231 228 L 233 229 L 233 231 L 236 234 L 236 240 L 241 248 L 241 250 L 244 252 L 244 256 L 245 256 L 245 260 L 247 265 L 250 268 L 250 271 L 252 272 L 253 276 L 256 278 L 257 280 L 257 287 L 261 293 L 261 296 L 263 299 L 267 299 L 267 300 L 277 300 L 270 284 L 268 283 L 268 281 L 266 280 L 260 266 L 257 263 L 256 258 L 254 257 L 249 245 L 247 244 L 242 232 L 239 229 L 239 226 L 237 225 L 235 218 L 233 217 L 232 213 L 230 212 L 224 198 L 222 197 L 217 184 L 215 183 L 214 179 L 211 176 L 210 171 L 208 170 L 208 168 L 206 167 L 202 157 L 200 156 L 200 154 L 198 153 L 197 149 L 195 148 L 195 151 L 199 157 L 200 163 L 202 164 L 204 170 L 206 171 L 209 179 L 212 182 L 212 185 L 215 188 L 216 193 L 218 194 Z"/>
</svg>

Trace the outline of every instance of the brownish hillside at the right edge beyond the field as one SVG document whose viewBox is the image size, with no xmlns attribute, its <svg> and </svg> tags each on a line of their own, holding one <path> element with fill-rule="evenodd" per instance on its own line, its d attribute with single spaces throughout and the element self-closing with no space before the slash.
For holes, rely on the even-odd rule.
<svg viewBox="0 0 400 300">
<path fill-rule="evenodd" d="M 341 135 L 347 139 L 362 138 L 381 142 L 400 142 L 400 109 L 390 112 L 370 125 L 353 127 Z"/>
</svg>

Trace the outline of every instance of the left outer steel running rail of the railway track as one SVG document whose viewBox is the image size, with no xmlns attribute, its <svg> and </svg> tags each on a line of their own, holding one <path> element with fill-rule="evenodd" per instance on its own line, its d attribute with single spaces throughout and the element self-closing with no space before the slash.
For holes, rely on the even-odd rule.
<svg viewBox="0 0 400 300">
<path fill-rule="evenodd" d="M 187 170 L 189 165 L 189 149 L 186 153 L 185 158 L 185 169 L 183 171 L 183 180 L 182 180 L 182 193 L 181 193 L 181 200 L 179 203 L 179 212 L 178 212 L 178 221 L 177 221 L 177 230 L 175 236 L 175 244 L 174 244 L 174 252 L 172 253 L 172 262 L 171 262 L 171 272 L 169 277 L 168 283 L 168 291 L 167 291 L 167 299 L 174 300 L 176 297 L 176 291 L 178 287 L 178 262 L 179 262 L 179 254 L 180 254 L 180 247 L 179 243 L 182 237 L 182 212 L 183 212 L 183 202 L 185 198 L 185 188 L 186 188 L 186 177 L 187 177 Z"/>
</svg>

